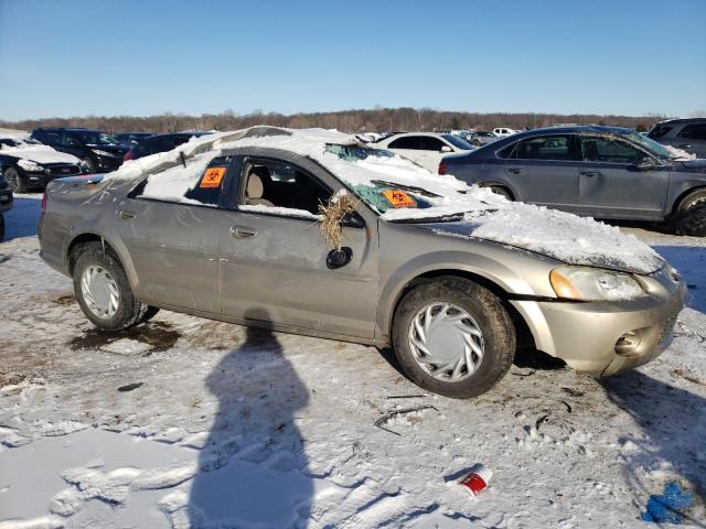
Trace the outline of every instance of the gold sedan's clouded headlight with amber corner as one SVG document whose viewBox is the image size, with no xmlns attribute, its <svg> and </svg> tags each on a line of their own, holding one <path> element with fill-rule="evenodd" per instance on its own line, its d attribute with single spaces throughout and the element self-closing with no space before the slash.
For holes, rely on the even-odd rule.
<svg viewBox="0 0 706 529">
<path fill-rule="evenodd" d="M 648 295 L 629 273 L 589 267 L 557 267 L 549 273 L 557 296 L 565 300 L 617 301 Z"/>
</svg>

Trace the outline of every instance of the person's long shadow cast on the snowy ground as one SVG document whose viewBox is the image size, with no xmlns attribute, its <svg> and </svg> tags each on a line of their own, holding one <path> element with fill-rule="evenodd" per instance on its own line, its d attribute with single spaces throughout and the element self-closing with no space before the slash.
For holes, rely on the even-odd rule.
<svg viewBox="0 0 706 529">
<path fill-rule="evenodd" d="M 246 317 L 269 321 L 260 310 Z M 246 333 L 206 379 L 218 410 L 191 487 L 194 529 L 303 527 L 309 520 L 313 482 L 295 424 L 309 392 L 270 328 Z"/>
</svg>

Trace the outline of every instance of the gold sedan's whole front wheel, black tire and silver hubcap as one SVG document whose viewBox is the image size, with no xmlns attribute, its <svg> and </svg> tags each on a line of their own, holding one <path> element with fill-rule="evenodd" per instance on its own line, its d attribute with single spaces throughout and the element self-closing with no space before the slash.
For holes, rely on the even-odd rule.
<svg viewBox="0 0 706 529">
<path fill-rule="evenodd" d="M 418 386 L 456 399 L 479 396 L 510 369 L 515 330 L 500 299 L 461 278 L 413 288 L 395 312 L 395 355 Z"/>
</svg>

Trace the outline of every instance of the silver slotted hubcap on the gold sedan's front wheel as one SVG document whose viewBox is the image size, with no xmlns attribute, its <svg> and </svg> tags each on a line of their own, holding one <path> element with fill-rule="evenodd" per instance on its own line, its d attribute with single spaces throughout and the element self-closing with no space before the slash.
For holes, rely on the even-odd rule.
<svg viewBox="0 0 706 529">
<path fill-rule="evenodd" d="M 446 302 L 422 307 L 409 324 L 415 360 L 437 380 L 458 382 L 483 361 L 483 333 L 463 309 Z"/>
</svg>

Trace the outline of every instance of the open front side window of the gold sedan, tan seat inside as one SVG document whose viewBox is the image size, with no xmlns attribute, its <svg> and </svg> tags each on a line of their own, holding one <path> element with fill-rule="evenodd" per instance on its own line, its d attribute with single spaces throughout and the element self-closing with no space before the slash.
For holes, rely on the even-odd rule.
<svg viewBox="0 0 706 529">
<path fill-rule="evenodd" d="M 265 206 L 319 214 L 332 191 L 295 165 L 274 160 L 247 159 L 242 173 L 240 205 Z M 292 212 L 296 214 L 296 212 Z"/>
</svg>

